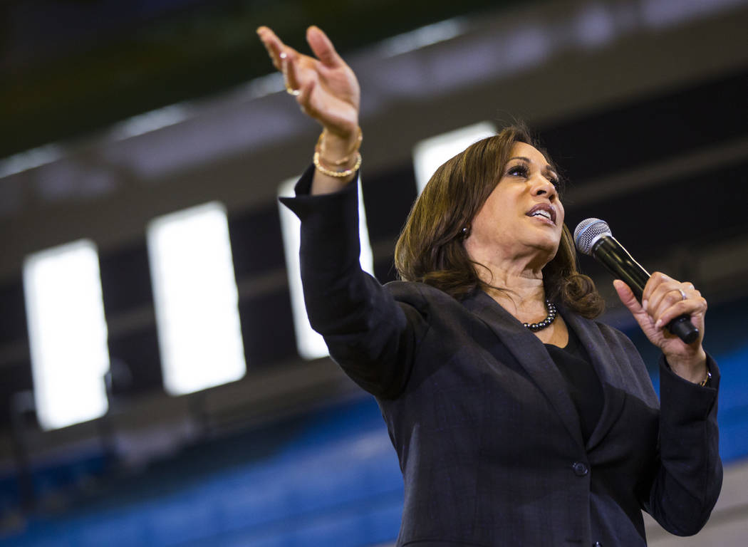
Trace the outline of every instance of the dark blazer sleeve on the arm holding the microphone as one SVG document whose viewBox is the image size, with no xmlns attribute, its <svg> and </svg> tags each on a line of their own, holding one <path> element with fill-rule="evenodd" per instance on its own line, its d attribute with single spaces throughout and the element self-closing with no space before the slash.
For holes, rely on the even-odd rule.
<svg viewBox="0 0 748 547">
<path fill-rule="evenodd" d="M 690 536 L 706 524 L 722 487 L 717 430 L 720 370 L 708 357 L 708 386 L 676 375 L 660 358 L 659 458 L 643 504 L 671 534 Z"/>
</svg>

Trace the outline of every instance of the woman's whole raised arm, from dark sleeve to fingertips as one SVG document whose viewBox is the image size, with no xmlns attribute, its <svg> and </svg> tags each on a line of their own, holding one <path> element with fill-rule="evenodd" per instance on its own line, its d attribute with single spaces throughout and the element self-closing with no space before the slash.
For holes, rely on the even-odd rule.
<svg viewBox="0 0 748 547">
<path fill-rule="evenodd" d="M 358 193 L 351 183 L 361 163 L 358 81 L 319 28 L 307 30 L 314 57 L 286 46 L 267 27 L 257 34 L 283 73 L 286 91 L 323 128 L 314 168 L 299 180 L 295 198 L 281 198 L 301 219 L 310 323 L 358 385 L 378 397 L 397 397 L 429 323 L 417 295 L 396 302 L 359 263 Z"/>
</svg>

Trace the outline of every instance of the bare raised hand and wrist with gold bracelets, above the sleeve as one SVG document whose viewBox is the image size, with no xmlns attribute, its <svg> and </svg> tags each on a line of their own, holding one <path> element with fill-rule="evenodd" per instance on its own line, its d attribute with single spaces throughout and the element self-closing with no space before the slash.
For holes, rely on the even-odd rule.
<svg viewBox="0 0 748 547">
<path fill-rule="evenodd" d="M 322 125 L 316 150 L 319 166 L 314 173 L 311 193 L 337 192 L 353 180 L 357 164 L 360 165 L 361 89 L 356 75 L 337 54 L 327 35 L 316 26 L 307 28 L 307 42 L 315 57 L 301 55 L 286 46 L 268 27 L 258 28 L 257 35 L 273 65 L 283 74 L 286 91 L 296 97 L 304 114 Z M 324 171 L 343 176 L 332 176 Z"/>
</svg>

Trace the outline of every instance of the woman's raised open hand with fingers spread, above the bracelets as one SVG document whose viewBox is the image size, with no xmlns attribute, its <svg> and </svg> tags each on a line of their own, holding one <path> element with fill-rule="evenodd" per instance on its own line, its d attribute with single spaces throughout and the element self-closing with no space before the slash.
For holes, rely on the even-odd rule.
<svg viewBox="0 0 748 547">
<path fill-rule="evenodd" d="M 347 144 L 355 142 L 361 90 L 353 70 L 327 35 L 316 26 L 307 28 L 307 42 L 315 57 L 286 46 L 268 27 L 258 28 L 257 35 L 301 110 L 319 121 L 332 137 Z"/>
</svg>

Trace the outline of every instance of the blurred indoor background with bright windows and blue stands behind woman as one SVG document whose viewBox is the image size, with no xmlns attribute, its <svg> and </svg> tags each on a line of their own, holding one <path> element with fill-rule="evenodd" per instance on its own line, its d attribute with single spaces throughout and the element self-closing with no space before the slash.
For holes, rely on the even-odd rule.
<svg viewBox="0 0 748 547">
<path fill-rule="evenodd" d="M 319 128 L 254 29 L 306 52 L 311 24 L 361 82 L 362 262 L 381 282 L 423 165 L 520 118 L 568 179 L 572 230 L 605 219 L 702 291 L 726 480 L 696 537 L 648 536 L 745 546 L 746 0 L 4 0 L 0 541 L 393 545 L 394 450 L 302 336 L 277 203 Z M 171 229 L 189 219 L 211 228 Z M 580 263 L 657 385 L 610 277 Z"/>
</svg>

